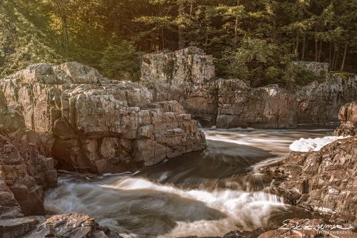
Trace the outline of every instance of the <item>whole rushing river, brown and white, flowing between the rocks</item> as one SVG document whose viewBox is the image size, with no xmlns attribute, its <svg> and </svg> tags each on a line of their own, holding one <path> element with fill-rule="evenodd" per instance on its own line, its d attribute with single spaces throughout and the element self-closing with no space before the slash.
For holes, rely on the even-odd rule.
<svg viewBox="0 0 357 238">
<path fill-rule="evenodd" d="M 258 167 L 285 155 L 299 138 L 331 130 L 205 130 L 207 149 L 134 174 L 62 172 L 46 209 L 79 212 L 128 237 L 217 236 L 311 217 L 268 193 Z"/>
</svg>

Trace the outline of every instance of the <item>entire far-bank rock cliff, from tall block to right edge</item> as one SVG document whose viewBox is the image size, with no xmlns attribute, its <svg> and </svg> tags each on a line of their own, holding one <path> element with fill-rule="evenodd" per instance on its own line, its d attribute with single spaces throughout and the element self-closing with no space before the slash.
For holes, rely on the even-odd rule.
<svg viewBox="0 0 357 238">
<path fill-rule="evenodd" d="M 212 56 L 189 47 L 144 55 L 141 85 L 149 88 L 154 101 L 178 100 L 205 127 L 277 129 L 338 121 L 339 108 L 357 100 L 357 77 L 330 75 L 327 63 L 295 63 L 326 73 L 326 81 L 293 91 L 275 85 L 251 88 L 238 79 L 216 79 Z"/>
</svg>

